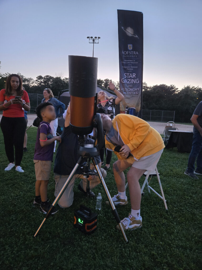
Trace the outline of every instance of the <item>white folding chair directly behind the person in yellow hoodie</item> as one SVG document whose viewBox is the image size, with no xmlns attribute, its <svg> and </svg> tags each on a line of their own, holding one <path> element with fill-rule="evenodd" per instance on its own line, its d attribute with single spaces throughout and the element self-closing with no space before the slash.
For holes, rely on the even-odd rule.
<svg viewBox="0 0 202 270">
<path fill-rule="evenodd" d="M 158 195 L 158 197 L 161 198 L 161 200 L 163 200 L 163 203 L 164 203 L 164 205 L 165 205 L 166 210 L 168 210 L 168 207 L 167 207 L 167 204 L 166 204 L 166 199 L 165 199 L 165 196 L 164 196 L 164 193 L 163 193 L 163 188 L 162 188 L 162 185 L 161 185 L 161 180 L 160 180 L 160 177 L 159 177 L 159 173 L 158 173 L 157 167 L 155 168 L 154 171 L 145 171 L 144 176 L 146 176 L 146 177 L 145 177 L 144 183 L 143 183 L 142 188 L 141 188 L 141 193 L 143 193 L 144 187 L 145 187 L 145 185 L 147 184 L 147 188 L 148 188 L 149 193 L 150 193 L 150 190 L 152 190 L 156 195 Z M 160 189 L 161 189 L 161 195 L 162 195 L 162 196 L 161 196 L 160 194 L 158 194 L 158 192 L 156 192 L 156 191 L 149 185 L 149 182 L 151 181 L 151 178 L 150 178 L 150 180 L 149 180 L 149 182 L 148 182 L 149 176 L 151 176 L 151 178 L 152 178 L 152 176 L 156 176 L 156 177 L 157 177 L 158 182 L 159 182 L 159 187 L 160 187 Z M 127 183 L 126 186 L 125 186 L 125 190 L 126 190 L 127 186 L 128 186 L 128 183 Z"/>
</svg>

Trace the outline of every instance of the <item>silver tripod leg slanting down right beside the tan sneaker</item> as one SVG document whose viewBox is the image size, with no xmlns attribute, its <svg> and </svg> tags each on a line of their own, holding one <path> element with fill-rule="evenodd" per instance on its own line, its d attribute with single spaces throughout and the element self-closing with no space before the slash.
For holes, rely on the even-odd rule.
<svg viewBox="0 0 202 270">
<path fill-rule="evenodd" d="M 112 198 L 111 198 L 111 196 L 110 196 L 110 194 L 109 194 L 109 190 L 107 189 L 107 186 L 106 186 L 106 184 L 105 184 L 105 180 L 104 180 L 104 178 L 102 177 L 100 168 L 99 168 L 98 165 L 97 165 L 97 161 L 96 161 L 95 158 L 93 158 L 92 161 L 93 161 L 93 164 L 94 164 L 94 166 L 95 166 L 95 168 L 96 168 L 96 171 L 97 171 L 97 174 L 98 174 L 98 176 L 99 176 L 99 178 L 100 178 L 100 181 L 101 181 L 101 183 L 102 183 L 102 185 L 103 185 L 103 187 L 104 187 L 104 190 L 105 190 L 105 193 L 106 193 L 106 195 L 107 195 L 107 198 L 108 198 L 108 200 L 109 200 L 109 202 L 110 202 L 110 205 L 111 205 L 111 207 L 112 207 L 113 215 L 114 215 L 114 217 L 115 217 L 117 223 L 119 224 L 119 227 L 120 227 L 120 229 L 121 229 L 121 232 L 122 232 L 122 234 L 123 234 L 123 237 L 124 237 L 126 243 L 128 243 L 128 239 L 127 239 L 126 234 L 125 234 L 125 232 L 124 232 L 124 230 L 123 230 L 123 227 L 122 227 L 122 225 L 121 225 L 121 221 L 120 221 L 119 214 L 118 214 L 118 212 L 117 212 L 117 210 L 116 210 L 116 208 L 115 208 L 115 206 L 114 206 L 114 203 L 113 203 L 113 201 L 112 201 Z"/>
</svg>

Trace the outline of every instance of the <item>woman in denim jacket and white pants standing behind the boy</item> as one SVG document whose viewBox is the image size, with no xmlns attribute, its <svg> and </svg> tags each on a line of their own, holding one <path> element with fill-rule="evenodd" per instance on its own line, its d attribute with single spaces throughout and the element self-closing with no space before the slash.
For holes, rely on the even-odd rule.
<svg viewBox="0 0 202 270">
<path fill-rule="evenodd" d="M 53 131 L 53 136 L 56 136 L 56 130 L 58 127 L 58 117 L 62 117 L 65 111 L 65 104 L 62 103 L 60 100 L 54 98 L 53 92 L 51 91 L 50 88 L 44 89 L 43 96 L 44 98 L 41 100 L 41 103 L 50 102 L 53 104 L 53 107 L 55 108 L 56 117 L 55 117 L 55 120 L 50 122 L 50 126 Z M 60 113 L 60 108 L 61 108 L 61 113 Z M 54 152 L 55 152 L 55 147 L 56 147 L 56 141 L 55 141 L 54 150 L 53 150 Z"/>
</svg>

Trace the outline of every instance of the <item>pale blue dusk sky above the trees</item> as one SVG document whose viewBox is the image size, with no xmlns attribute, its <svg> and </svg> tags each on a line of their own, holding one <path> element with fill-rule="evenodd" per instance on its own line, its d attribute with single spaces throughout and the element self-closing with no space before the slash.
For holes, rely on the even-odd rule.
<svg viewBox="0 0 202 270">
<path fill-rule="evenodd" d="M 141 11 L 143 81 L 202 87 L 202 0 L 0 0 L 0 73 L 68 75 L 68 55 L 92 56 L 119 80 L 117 9 Z"/>
</svg>

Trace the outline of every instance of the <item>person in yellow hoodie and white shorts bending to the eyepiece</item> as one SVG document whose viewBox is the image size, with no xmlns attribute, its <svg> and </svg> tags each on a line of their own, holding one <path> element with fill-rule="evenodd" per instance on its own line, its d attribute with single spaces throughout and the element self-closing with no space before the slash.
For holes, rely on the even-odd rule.
<svg viewBox="0 0 202 270">
<path fill-rule="evenodd" d="M 130 167 L 127 181 L 131 201 L 131 213 L 121 220 L 124 230 L 135 230 L 142 227 L 140 216 L 141 188 L 140 177 L 147 170 L 154 170 L 161 154 L 164 143 L 161 135 L 150 125 L 130 114 L 117 114 L 113 120 L 101 113 L 103 129 L 106 130 L 106 149 L 114 151 L 118 160 L 113 164 L 113 173 L 118 194 L 112 198 L 114 205 L 128 203 L 125 190 L 123 171 Z M 109 202 L 106 202 L 109 204 Z M 117 229 L 120 230 L 119 225 Z"/>
</svg>

